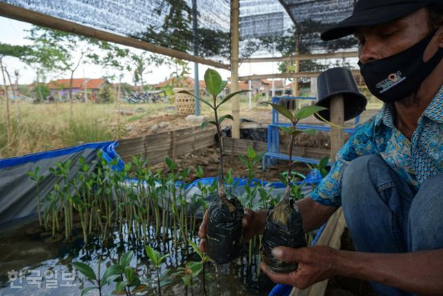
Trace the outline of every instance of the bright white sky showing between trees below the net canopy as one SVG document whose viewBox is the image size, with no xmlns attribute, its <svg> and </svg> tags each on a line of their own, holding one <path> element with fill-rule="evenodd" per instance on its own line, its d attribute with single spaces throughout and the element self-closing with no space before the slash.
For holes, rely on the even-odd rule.
<svg viewBox="0 0 443 296">
<path fill-rule="evenodd" d="M 26 30 L 30 29 L 32 24 L 25 23 L 23 21 L 16 21 L 14 19 L 8 19 L 6 17 L 0 17 L 0 42 L 12 45 L 26 45 L 30 44 L 29 40 L 26 40 Z M 122 48 L 128 48 L 127 46 L 121 46 Z M 134 53 L 141 53 L 140 49 L 131 49 Z M 19 84 L 30 84 L 35 80 L 35 71 L 27 67 L 24 63 L 15 58 L 5 58 L 6 67 L 10 73 L 15 70 L 19 70 Z M 189 76 L 194 77 L 194 63 L 190 62 L 188 67 L 191 69 Z M 204 80 L 204 71 L 208 69 L 207 66 L 199 64 L 199 80 Z M 217 69 L 221 77 L 227 80 L 230 76 L 230 71 L 223 69 Z M 252 74 L 268 74 L 277 71 L 276 63 L 253 63 L 253 64 L 241 64 L 239 66 L 239 76 L 248 76 Z M 156 84 L 163 82 L 170 78 L 172 70 L 168 66 L 150 67 L 150 73 L 146 73 L 143 77 L 145 83 Z M 109 74 L 109 71 L 105 71 L 102 67 L 93 64 L 81 64 L 79 69 L 74 73 L 74 78 L 100 78 Z M 48 76 L 47 80 L 57 78 L 69 78 L 69 73 L 64 73 L 57 76 Z M 123 82 L 133 84 L 132 73 L 125 73 Z"/>
</svg>

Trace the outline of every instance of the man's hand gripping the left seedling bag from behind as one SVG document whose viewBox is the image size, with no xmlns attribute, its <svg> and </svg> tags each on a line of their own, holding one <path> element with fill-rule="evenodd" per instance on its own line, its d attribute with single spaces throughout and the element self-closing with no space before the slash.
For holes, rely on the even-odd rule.
<svg viewBox="0 0 443 296">
<path fill-rule="evenodd" d="M 199 227 L 199 250 L 206 250 L 206 228 L 208 225 L 209 212 L 206 211 L 203 216 L 203 222 Z M 244 217 L 242 220 L 244 241 L 249 241 L 255 234 L 262 234 L 264 231 L 264 223 L 266 223 L 266 211 L 253 211 L 244 209 Z"/>
</svg>

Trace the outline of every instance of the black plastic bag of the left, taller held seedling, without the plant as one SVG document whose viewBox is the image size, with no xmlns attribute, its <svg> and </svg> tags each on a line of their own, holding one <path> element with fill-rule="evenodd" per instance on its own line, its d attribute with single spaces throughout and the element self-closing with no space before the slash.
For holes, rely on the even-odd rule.
<svg viewBox="0 0 443 296">
<path fill-rule="evenodd" d="M 206 230 L 206 254 L 217 264 L 224 264 L 237 258 L 243 248 L 242 204 L 237 198 L 229 200 L 235 207 L 229 211 L 220 198 L 209 207 L 208 228 Z"/>
</svg>

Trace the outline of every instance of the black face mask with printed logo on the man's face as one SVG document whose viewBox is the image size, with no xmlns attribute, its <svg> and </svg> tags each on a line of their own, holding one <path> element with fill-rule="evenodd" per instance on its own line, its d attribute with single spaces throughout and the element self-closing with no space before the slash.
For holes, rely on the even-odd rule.
<svg viewBox="0 0 443 296">
<path fill-rule="evenodd" d="M 428 62 L 423 61 L 424 51 L 433 37 L 431 33 L 409 49 L 388 58 L 367 64 L 359 62 L 370 92 L 384 103 L 399 101 L 415 92 L 443 58 L 443 49 L 438 49 Z"/>
</svg>

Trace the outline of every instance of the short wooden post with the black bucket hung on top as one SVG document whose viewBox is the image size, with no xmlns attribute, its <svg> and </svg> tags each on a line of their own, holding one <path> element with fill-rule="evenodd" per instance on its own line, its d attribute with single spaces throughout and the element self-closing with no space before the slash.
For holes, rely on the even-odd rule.
<svg viewBox="0 0 443 296">
<path fill-rule="evenodd" d="M 334 125 L 343 126 L 345 124 L 345 106 L 343 95 L 336 95 L 331 98 L 329 105 L 330 119 Z M 335 156 L 345 143 L 345 132 L 342 128 L 331 125 L 331 163 L 334 163 Z"/>
</svg>

